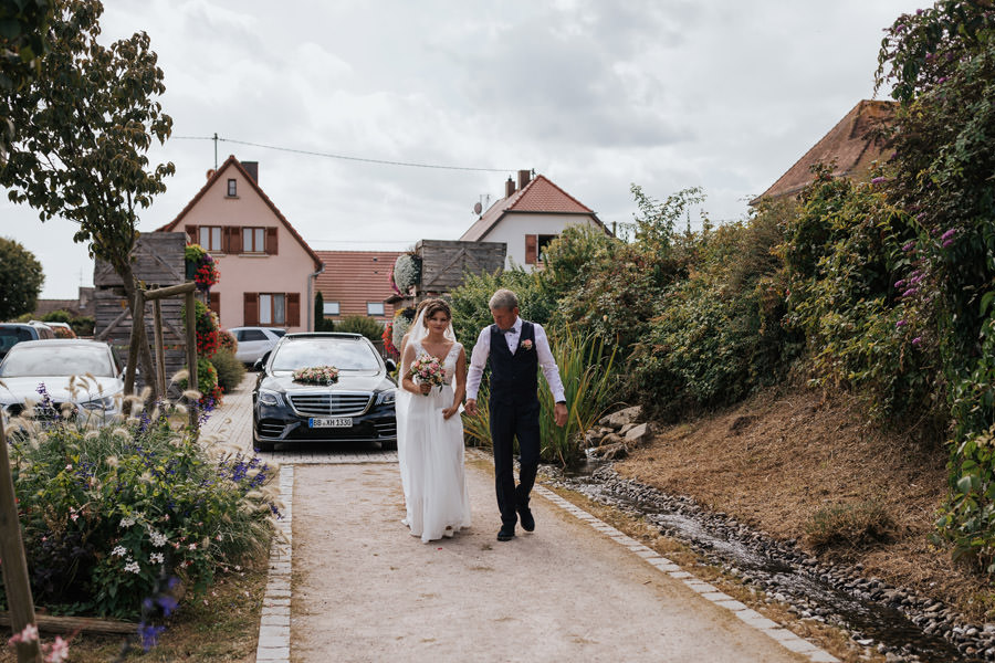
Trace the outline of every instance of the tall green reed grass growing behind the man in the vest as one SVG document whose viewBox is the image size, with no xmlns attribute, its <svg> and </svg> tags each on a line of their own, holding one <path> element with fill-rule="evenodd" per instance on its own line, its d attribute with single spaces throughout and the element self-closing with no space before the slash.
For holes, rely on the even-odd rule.
<svg viewBox="0 0 995 663">
<path fill-rule="evenodd" d="M 563 466 L 577 464 L 584 457 L 584 433 L 614 404 L 618 387 L 617 347 L 608 348 L 594 334 L 583 334 L 566 325 L 547 328 L 553 358 L 559 368 L 567 401 L 567 423 L 557 427 L 553 417 L 554 400 L 540 369 L 540 428 L 543 462 Z M 463 430 L 473 442 L 491 446 L 490 389 L 484 379 L 478 394 L 478 415 L 463 414 Z"/>
</svg>

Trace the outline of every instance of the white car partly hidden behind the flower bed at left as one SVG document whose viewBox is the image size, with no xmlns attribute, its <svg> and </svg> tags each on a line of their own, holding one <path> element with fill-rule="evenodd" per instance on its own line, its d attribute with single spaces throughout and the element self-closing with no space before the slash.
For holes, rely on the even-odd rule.
<svg viewBox="0 0 995 663">
<path fill-rule="evenodd" d="M 42 401 L 40 386 L 52 400 L 53 415 L 69 403 L 81 420 L 105 421 L 121 412 L 124 375 L 106 343 L 97 340 L 25 340 L 0 361 L 0 411 L 18 417 Z M 70 379 L 75 376 L 75 388 Z M 85 376 L 93 376 L 93 380 Z"/>
</svg>

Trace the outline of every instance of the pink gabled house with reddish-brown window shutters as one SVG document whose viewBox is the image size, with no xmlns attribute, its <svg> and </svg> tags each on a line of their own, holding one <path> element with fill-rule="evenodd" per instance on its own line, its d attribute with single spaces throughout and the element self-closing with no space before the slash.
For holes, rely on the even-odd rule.
<svg viewBox="0 0 995 663">
<path fill-rule="evenodd" d="M 159 231 L 186 232 L 217 261 L 221 278 L 210 307 L 221 327 L 314 329 L 317 254 L 259 188 L 259 164 L 234 156 L 208 171 L 208 181 Z"/>
</svg>

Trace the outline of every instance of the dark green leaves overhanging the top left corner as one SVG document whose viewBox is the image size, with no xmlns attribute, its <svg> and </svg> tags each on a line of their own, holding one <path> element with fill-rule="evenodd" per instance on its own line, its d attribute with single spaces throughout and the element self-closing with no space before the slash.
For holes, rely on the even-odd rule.
<svg viewBox="0 0 995 663">
<path fill-rule="evenodd" d="M 54 0 L 0 0 L 0 94 L 18 92 L 38 75 L 54 4 Z M 13 138 L 14 124 L 0 110 L 0 167 Z"/>
</svg>

